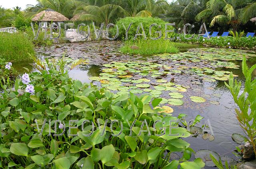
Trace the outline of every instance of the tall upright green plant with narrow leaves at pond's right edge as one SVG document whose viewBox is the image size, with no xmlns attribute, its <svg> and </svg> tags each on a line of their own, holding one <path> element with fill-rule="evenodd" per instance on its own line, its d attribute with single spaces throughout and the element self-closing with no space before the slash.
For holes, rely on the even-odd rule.
<svg viewBox="0 0 256 169">
<path fill-rule="evenodd" d="M 254 148 L 256 155 L 256 79 L 252 80 L 252 72 L 256 69 L 256 65 L 253 65 L 250 69 L 246 65 L 246 57 L 243 57 L 242 71 L 246 81 L 244 83 L 244 91 L 240 93 L 242 82 L 234 80 L 233 73 L 230 73 L 229 83 L 225 83 L 230 90 L 234 101 L 239 106 L 240 110 L 236 109 L 236 117 L 240 123 L 240 126 L 244 130 L 248 138 L 246 141 Z"/>
</svg>

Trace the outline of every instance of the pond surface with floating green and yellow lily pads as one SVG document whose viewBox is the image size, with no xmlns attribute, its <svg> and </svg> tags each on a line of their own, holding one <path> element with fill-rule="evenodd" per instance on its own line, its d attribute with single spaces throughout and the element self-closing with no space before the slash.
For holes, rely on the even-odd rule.
<svg viewBox="0 0 256 169">
<path fill-rule="evenodd" d="M 180 113 L 187 114 L 186 121 L 200 114 L 204 119 L 196 126 L 202 127 L 207 121 L 213 131 L 209 134 L 214 135 L 214 140 L 204 140 L 200 135 L 186 138 L 191 148 L 195 151 L 210 149 L 221 156 L 237 159 L 233 153 L 238 144 L 231 136 L 243 134 L 243 131 L 234 112 L 237 106 L 224 81 L 230 71 L 243 81 L 242 70 L 239 69 L 242 56 L 248 57 L 248 65 L 251 66 L 256 63 L 255 52 L 198 48 L 174 55 L 143 57 L 120 53 L 121 45 L 119 41 L 92 41 L 40 47 L 36 51 L 42 60 L 66 55 L 71 64 L 78 59 L 86 59 L 87 65 L 80 65 L 69 72 L 70 77 L 83 83 L 92 82 L 117 94 L 131 91 L 165 98 L 161 106 L 170 106 L 176 117 Z M 256 72 L 253 75 L 255 77 Z M 202 98 L 196 98 L 194 102 L 191 96 Z"/>
</svg>

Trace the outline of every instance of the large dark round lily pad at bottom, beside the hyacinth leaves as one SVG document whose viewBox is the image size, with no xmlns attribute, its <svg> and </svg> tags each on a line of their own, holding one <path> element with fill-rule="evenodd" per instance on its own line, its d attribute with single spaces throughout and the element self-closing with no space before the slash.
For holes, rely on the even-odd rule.
<svg viewBox="0 0 256 169">
<path fill-rule="evenodd" d="M 196 151 L 196 153 L 194 154 L 194 157 L 196 159 L 201 158 L 205 162 L 206 166 L 214 167 L 215 164 L 212 162 L 210 154 L 212 154 L 214 156 L 214 158 L 216 158 L 218 161 L 220 160 L 220 155 L 218 153 L 208 150 L 208 149 L 201 149 L 201 150 Z"/>
</svg>

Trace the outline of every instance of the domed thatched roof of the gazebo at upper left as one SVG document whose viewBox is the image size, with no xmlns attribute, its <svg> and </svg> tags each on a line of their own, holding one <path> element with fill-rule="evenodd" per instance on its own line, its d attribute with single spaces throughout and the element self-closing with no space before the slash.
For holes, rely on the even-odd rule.
<svg viewBox="0 0 256 169">
<path fill-rule="evenodd" d="M 63 22 L 69 21 L 69 19 L 54 10 L 48 9 L 36 14 L 32 21 Z"/>
</svg>

